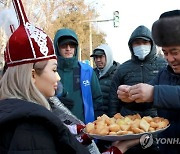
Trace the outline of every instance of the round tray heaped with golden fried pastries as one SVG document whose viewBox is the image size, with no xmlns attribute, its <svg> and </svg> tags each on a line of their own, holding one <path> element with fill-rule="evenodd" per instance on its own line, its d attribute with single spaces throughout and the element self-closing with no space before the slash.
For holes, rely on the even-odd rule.
<svg viewBox="0 0 180 154">
<path fill-rule="evenodd" d="M 140 138 L 145 133 L 155 135 L 169 126 L 169 121 L 162 117 L 122 116 L 117 113 L 111 118 L 105 114 L 99 116 L 86 125 L 84 132 L 94 139 L 120 141 Z"/>
</svg>

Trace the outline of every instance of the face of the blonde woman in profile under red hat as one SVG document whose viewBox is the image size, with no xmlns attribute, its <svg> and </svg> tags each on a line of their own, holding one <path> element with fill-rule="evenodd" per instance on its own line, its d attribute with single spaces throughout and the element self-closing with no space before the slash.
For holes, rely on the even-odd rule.
<svg viewBox="0 0 180 154">
<path fill-rule="evenodd" d="M 32 71 L 32 78 L 35 86 L 46 98 L 54 96 L 55 90 L 57 90 L 58 81 L 60 80 L 60 76 L 57 73 L 57 60 L 48 60 L 40 73 L 34 68 Z"/>
</svg>

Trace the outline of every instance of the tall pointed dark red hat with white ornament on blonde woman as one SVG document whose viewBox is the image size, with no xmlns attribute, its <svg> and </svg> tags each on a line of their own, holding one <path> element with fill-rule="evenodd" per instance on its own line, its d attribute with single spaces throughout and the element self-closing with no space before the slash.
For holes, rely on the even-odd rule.
<svg viewBox="0 0 180 154">
<path fill-rule="evenodd" d="M 8 67 L 56 59 L 51 39 L 44 31 L 29 23 L 21 0 L 12 2 L 20 25 L 6 46 L 5 62 Z"/>
</svg>

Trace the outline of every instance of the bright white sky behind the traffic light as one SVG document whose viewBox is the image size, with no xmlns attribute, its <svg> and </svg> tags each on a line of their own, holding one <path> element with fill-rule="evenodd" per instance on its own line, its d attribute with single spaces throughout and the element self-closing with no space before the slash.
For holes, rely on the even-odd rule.
<svg viewBox="0 0 180 154">
<path fill-rule="evenodd" d="M 151 30 L 160 14 L 180 9 L 179 0 L 88 0 L 100 13 L 100 19 L 112 19 L 113 11 L 119 11 L 119 28 L 113 22 L 98 23 L 100 30 L 107 34 L 107 42 L 113 50 L 114 59 L 122 63 L 130 58 L 128 40 L 132 31 L 139 25 Z"/>
</svg>

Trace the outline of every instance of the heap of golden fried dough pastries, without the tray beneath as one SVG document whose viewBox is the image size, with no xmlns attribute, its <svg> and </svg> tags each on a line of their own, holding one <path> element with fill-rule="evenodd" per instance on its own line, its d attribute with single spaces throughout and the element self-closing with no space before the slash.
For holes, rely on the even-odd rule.
<svg viewBox="0 0 180 154">
<path fill-rule="evenodd" d="M 126 135 L 153 132 L 169 125 L 162 117 L 141 117 L 139 114 L 122 116 L 120 113 L 113 117 L 103 114 L 94 122 L 86 125 L 85 131 L 97 135 Z"/>
</svg>

